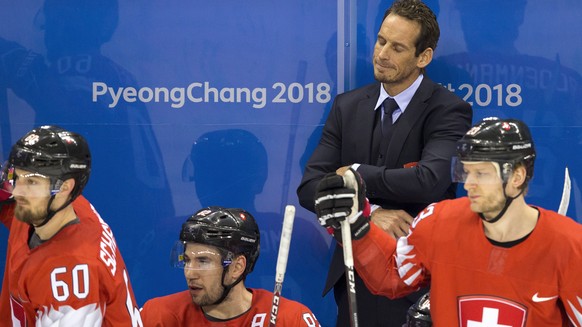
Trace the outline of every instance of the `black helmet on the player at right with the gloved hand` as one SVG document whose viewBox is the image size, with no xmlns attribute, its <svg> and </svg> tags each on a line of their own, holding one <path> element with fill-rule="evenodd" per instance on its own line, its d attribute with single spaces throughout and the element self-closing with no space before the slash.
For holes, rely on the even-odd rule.
<svg viewBox="0 0 582 327">
<path fill-rule="evenodd" d="M 527 171 L 527 183 L 533 177 L 535 157 L 534 142 L 524 122 L 485 118 L 457 142 L 453 176 L 458 176 L 455 167 L 462 166 L 459 161 L 492 161 L 499 164 L 501 178 L 507 181 L 515 165 L 522 163 Z"/>
</svg>

